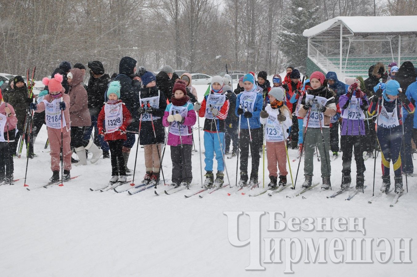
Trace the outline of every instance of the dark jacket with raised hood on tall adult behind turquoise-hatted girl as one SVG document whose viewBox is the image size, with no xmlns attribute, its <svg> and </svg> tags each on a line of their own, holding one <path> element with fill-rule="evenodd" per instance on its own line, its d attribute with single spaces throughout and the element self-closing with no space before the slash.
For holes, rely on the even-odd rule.
<svg viewBox="0 0 417 277">
<path fill-rule="evenodd" d="M 135 68 L 136 60 L 131 57 L 124 57 L 119 63 L 119 75 L 116 76 L 114 81 L 120 82 L 120 99 L 125 103 L 126 108 L 131 113 L 132 122 L 128 126 L 128 131 L 138 131 L 139 129 L 139 90 L 140 82 L 132 80 L 133 68 Z"/>
</svg>

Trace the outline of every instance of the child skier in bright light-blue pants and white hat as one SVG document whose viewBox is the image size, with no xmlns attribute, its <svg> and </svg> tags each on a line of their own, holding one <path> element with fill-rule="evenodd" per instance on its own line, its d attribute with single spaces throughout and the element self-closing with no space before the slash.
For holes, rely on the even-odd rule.
<svg viewBox="0 0 417 277">
<path fill-rule="evenodd" d="M 201 104 L 195 103 L 194 109 L 198 111 L 198 116 L 205 117 L 204 121 L 204 162 L 206 166 L 206 180 L 204 186 L 210 188 L 211 186 L 223 186 L 224 180 L 224 133 L 227 113 L 229 111 L 229 99 L 223 94 L 223 78 L 214 76 L 211 79 L 211 91 L 204 96 Z M 219 136 L 217 136 L 217 132 Z M 219 141 L 220 138 L 220 141 Z M 213 175 L 213 159 L 216 152 L 217 160 L 217 174 L 216 180 Z M 224 153 L 224 152 L 223 152 Z"/>
</svg>

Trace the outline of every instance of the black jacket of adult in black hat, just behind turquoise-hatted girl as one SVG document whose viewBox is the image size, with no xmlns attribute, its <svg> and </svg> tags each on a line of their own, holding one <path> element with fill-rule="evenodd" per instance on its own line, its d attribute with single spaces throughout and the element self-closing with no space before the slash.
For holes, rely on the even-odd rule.
<svg viewBox="0 0 417 277">
<path fill-rule="evenodd" d="M 94 78 L 90 74 L 90 80 L 87 86 L 88 95 L 88 109 L 90 110 L 91 116 L 98 116 L 104 103 L 104 94 L 107 91 L 108 83 L 110 82 L 110 76 L 103 74 L 99 78 Z M 124 100 L 123 98 L 121 98 Z"/>
</svg>

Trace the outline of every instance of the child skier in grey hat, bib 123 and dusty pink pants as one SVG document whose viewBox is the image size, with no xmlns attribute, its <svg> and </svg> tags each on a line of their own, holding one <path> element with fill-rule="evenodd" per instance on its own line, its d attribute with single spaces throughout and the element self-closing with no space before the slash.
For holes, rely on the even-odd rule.
<svg viewBox="0 0 417 277">
<path fill-rule="evenodd" d="M 285 140 L 288 137 L 286 129 L 292 124 L 292 116 L 288 107 L 284 105 L 285 92 L 283 88 L 272 88 L 268 95 L 271 103 L 260 113 L 261 123 L 265 129 L 266 159 L 268 160 L 269 179 L 271 179 L 268 186 L 276 186 L 278 177 L 277 161 L 279 168 L 278 185 L 284 186 L 288 174 L 285 150 Z"/>
</svg>

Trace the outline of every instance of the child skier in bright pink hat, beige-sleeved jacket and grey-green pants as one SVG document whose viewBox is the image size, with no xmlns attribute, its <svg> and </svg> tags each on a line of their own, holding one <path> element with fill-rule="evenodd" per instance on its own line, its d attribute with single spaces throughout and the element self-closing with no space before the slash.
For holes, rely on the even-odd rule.
<svg viewBox="0 0 417 277">
<path fill-rule="evenodd" d="M 301 101 L 300 117 L 304 118 L 304 183 L 311 186 L 313 179 L 313 154 L 315 145 L 319 149 L 322 171 L 322 189 L 330 187 L 329 125 L 330 117 L 336 114 L 336 104 L 332 93 L 327 89 L 323 73 L 315 71 L 306 84 L 307 92 Z M 323 139 L 324 138 L 324 139 Z"/>
</svg>

